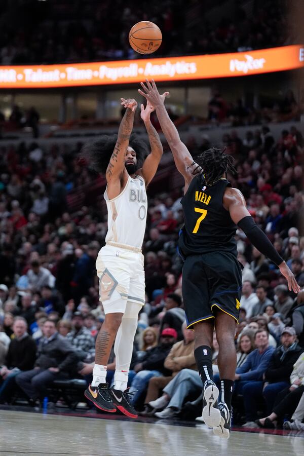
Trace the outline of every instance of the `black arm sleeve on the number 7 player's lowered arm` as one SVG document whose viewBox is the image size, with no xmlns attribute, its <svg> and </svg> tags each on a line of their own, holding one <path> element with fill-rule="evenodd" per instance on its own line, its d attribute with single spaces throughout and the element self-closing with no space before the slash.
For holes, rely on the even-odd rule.
<svg viewBox="0 0 304 456">
<path fill-rule="evenodd" d="M 263 255 L 267 256 L 277 266 L 282 263 L 283 258 L 278 254 L 265 233 L 257 226 L 253 218 L 248 215 L 239 221 L 238 226 L 244 231 L 249 241 Z"/>
</svg>

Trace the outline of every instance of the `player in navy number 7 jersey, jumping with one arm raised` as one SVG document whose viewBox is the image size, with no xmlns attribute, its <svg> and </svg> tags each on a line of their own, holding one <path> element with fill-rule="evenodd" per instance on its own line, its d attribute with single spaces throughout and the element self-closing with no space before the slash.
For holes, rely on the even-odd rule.
<svg viewBox="0 0 304 456">
<path fill-rule="evenodd" d="M 185 179 L 181 200 L 184 226 L 178 241 L 184 257 L 182 294 L 187 327 L 195 331 L 195 358 L 203 382 L 203 419 L 213 432 L 230 437 L 231 399 L 236 370 L 235 328 L 238 323 L 242 273 L 235 234 L 239 226 L 252 244 L 280 268 L 289 290 L 299 291 L 294 275 L 267 236 L 250 216 L 242 193 L 232 188 L 226 173 L 236 173 L 233 158 L 211 148 L 193 160 L 170 120 L 152 81 L 139 93 L 156 109 L 178 171 Z M 212 336 L 219 344 L 217 364 L 221 398 L 212 380 Z"/>
</svg>

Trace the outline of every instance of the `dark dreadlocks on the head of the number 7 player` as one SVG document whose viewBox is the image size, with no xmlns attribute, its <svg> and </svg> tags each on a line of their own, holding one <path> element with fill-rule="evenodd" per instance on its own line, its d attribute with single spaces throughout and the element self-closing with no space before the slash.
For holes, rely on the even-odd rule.
<svg viewBox="0 0 304 456">
<path fill-rule="evenodd" d="M 211 149 L 205 150 L 199 155 L 191 165 L 197 164 L 198 167 L 202 168 L 200 173 L 204 175 L 207 185 L 213 185 L 227 171 L 230 171 L 233 175 L 237 175 L 237 170 L 233 165 L 233 157 L 224 154 L 224 150 L 211 147 Z"/>
</svg>

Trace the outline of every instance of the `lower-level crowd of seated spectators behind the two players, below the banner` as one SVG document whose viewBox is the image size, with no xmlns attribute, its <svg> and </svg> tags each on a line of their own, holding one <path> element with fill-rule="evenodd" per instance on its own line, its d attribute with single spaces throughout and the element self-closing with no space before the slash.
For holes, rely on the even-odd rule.
<svg viewBox="0 0 304 456">
<path fill-rule="evenodd" d="M 301 133 L 292 127 L 275 139 L 263 127 L 244 140 L 234 131 L 223 143 L 238 169 L 238 177 L 230 176 L 232 184 L 243 192 L 256 223 L 303 287 Z M 200 147 L 190 147 L 194 156 Z M 0 403 L 23 391 L 35 404 L 54 379 L 89 382 L 92 375 L 94 340 L 104 318 L 95 259 L 107 225 L 101 194 L 79 211 L 68 206 L 73 189 L 100 181 L 79 162 L 80 148 L 38 142 L 1 147 Z M 201 383 L 193 334 L 183 324 L 182 262 L 176 252 L 181 196 L 180 189 L 149 195 L 143 243 L 146 304 L 129 382 L 143 414 L 194 419 L 201 414 Z M 240 230 L 236 239 L 244 269 L 235 421 L 280 426 L 304 389 L 304 292 L 296 296 L 289 291 L 277 266 L 252 248 Z M 213 350 L 217 374 L 216 334 Z M 114 370 L 112 354 L 109 384 Z M 293 390 L 297 394 L 288 402 Z M 300 427 L 300 411 L 296 413 L 294 423 Z"/>
</svg>

